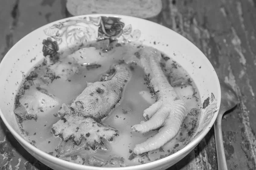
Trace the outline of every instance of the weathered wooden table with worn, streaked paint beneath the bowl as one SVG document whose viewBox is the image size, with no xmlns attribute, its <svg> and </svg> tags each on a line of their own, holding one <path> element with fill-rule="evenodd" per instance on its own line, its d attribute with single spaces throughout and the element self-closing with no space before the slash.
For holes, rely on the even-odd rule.
<svg viewBox="0 0 256 170">
<path fill-rule="evenodd" d="M 23 36 L 67 17 L 64 0 L 1 0 L 0 61 Z M 256 1 L 163 0 L 154 22 L 192 41 L 211 61 L 219 78 L 239 95 L 239 105 L 224 116 L 224 147 L 229 170 L 256 169 Z M 19 54 L 17 54 L 19 55 Z M 46 170 L 0 119 L 1 170 Z M 213 128 L 201 143 L 169 170 L 217 170 Z"/>
</svg>

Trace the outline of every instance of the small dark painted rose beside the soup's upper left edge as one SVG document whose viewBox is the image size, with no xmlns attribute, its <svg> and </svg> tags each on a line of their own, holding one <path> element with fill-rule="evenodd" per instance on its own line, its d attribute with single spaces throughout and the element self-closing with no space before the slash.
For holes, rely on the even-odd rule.
<svg viewBox="0 0 256 170">
<path fill-rule="evenodd" d="M 52 41 L 50 37 L 47 40 L 43 40 L 43 55 L 54 57 L 59 50 L 58 43 L 56 41 Z"/>
</svg>

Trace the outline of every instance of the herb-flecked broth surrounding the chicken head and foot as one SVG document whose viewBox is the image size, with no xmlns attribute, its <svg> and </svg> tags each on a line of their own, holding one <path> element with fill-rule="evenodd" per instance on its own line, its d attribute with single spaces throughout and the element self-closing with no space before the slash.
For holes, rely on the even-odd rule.
<svg viewBox="0 0 256 170">
<path fill-rule="evenodd" d="M 100 75 L 105 73 L 114 62 L 120 59 L 129 61 L 130 56 L 138 48 L 142 47 L 119 43 L 108 52 L 102 52 L 102 50 L 94 47 L 81 48 L 66 59 L 61 60 L 59 66 L 48 66 L 47 59 L 44 59 L 44 62 L 37 65 L 32 73 L 26 77 L 16 97 L 15 113 L 24 138 L 44 152 L 57 156 L 56 148 L 61 142 L 61 137 L 53 136 L 51 128 L 60 119 L 55 116 L 55 113 L 58 112 L 61 104 L 72 102 L 87 87 L 87 82 L 98 81 Z M 189 110 L 189 114 L 184 119 L 177 136 L 157 150 L 140 156 L 135 156 L 132 153 L 135 144 L 144 142 L 157 133 L 157 130 L 151 130 L 144 134 L 131 132 L 131 125 L 145 120 L 143 110 L 148 108 L 155 100 L 154 94 L 149 93 L 150 89 L 147 86 L 143 69 L 134 66 L 131 80 L 123 91 L 119 105 L 116 105 L 109 116 L 102 120 L 105 125 L 116 128 L 119 131 L 119 136 L 114 137 L 112 142 L 105 141 L 105 145 L 97 150 L 86 148 L 78 153 L 61 157 L 61 159 L 92 166 L 132 166 L 169 156 L 182 149 L 189 142 L 197 129 L 200 117 L 199 96 L 194 82 L 184 68 L 172 58 L 164 54 L 162 57 L 163 70 L 169 82 L 175 87 L 175 91 L 180 98 L 186 102 Z M 82 62 L 84 60 L 86 60 L 86 63 Z M 51 71 L 52 69 L 55 70 L 54 73 Z M 44 75 L 43 79 L 38 76 L 40 74 Z M 49 98 L 51 105 L 42 105 L 36 114 L 24 114 L 24 111 L 19 110 L 20 103 L 22 103 L 20 99 L 23 96 L 36 97 L 38 91 L 41 92 L 38 94 L 39 98 L 41 94 L 52 96 L 52 98 Z M 26 101 L 33 102 L 32 99 L 27 98 L 23 101 L 23 105 L 26 104 Z M 108 149 L 104 150 L 103 147 Z"/>
</svg>

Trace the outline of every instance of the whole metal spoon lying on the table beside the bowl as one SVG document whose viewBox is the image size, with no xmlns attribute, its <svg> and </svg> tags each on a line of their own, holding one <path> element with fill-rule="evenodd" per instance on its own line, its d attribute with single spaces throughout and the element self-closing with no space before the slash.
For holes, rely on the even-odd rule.
<svg viewBox="0 0 256 170">
<path fill-rule="evenodd" d="M 221 84 L 221 106 L 218 112 L 216 122 L 214 124 L 215 144 L 218 160 L 218 170 L 227 170 L 227 162 L 224 152 L 221 120 L 226 111 L 234 108 L 238 103 L 238 97 L 233 89 L 227 85 L 223 80 L 219 80 Z"/>
</svg>

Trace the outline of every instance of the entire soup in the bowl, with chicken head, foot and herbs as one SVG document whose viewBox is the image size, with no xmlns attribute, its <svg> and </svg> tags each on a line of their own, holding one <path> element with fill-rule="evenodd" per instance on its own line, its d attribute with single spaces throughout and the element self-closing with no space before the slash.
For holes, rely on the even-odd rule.
<svg viewBox="0 0 256 170">
<path fill-rule="evenodd" d="M 154 48 L 112 43 L 45 57 L 25 77 L 15 113 L 27 141 L 99 167 L 148 163 L 186 145 L 200 116 L 192 78 Z"/>
</svg>

